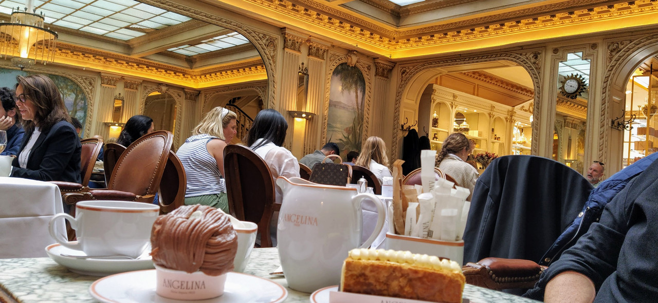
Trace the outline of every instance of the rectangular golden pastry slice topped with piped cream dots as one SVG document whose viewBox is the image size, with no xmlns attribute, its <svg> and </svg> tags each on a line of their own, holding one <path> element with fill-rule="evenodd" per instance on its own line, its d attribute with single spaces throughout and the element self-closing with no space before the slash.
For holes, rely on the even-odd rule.
<svg viewBox="0 0 658 303">
<path fill-rule="evenodd" d="M 459 303 L 466 278 L 457 262 L 426 254 L 357 248 L 343 263 L 341 291 Z"/>
</svg>

